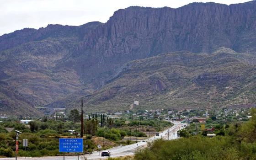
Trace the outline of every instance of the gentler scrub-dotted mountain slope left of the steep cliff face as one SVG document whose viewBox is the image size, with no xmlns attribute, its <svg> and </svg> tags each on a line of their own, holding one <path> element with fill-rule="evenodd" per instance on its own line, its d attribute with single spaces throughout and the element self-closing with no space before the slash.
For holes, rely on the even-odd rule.
<svg viewBox="0 0 256 160">
<path fill-rule="evenodd" d="M 80 32 L 85 33 L 100 24 L 90 23 L 74 28 L 83 28 Z M 67 30 L 67 27 L 49 25 L 39 30 L 32 29 L 33 34 L 24 29 L 0 37 L 8 37 L 1 41 L 0 45 L 10 43 L 7 47 L 15 46 L 0 52 L 0 81 L 5 84 L 1 85 L 0 90 L 2 110 L 12 114 L 14 108 L 20 107 L 21 110 L 15 110 L 16 115 L 31 116 L 34 112 L 34 116 L 38 116 L 42 113 L 32 107 L 42 107 L 53 102 L 54 104 L 49 107 L 63 107 L 61 100 L 66 96 L 86 95 L 88 91 L 82 85 L 76 71 L 69 66 L 58 67 L 66 59 L 72 59 L 79 46 L 81 35 L 76 32 L 78 29 L 68 27 Z M 27 39 L 24 39 L 24 42 L 19 41 L 22 37 Z M 35 39 L 41 40 L 34 41 Z M 16 95 L 22 98 L 17 100 Z M 31 112 L 23 112 L 23 109 Z"/>
</svg>

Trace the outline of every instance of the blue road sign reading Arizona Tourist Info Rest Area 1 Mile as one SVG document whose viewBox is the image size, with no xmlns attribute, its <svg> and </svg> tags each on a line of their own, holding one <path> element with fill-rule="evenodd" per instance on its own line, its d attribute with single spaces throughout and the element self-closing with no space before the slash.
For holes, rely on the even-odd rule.
<svg viewBox="0 0 256 160">
<path fill-rule="evenodd" d="M 83 152 L 83 139 L 59 139 L 59 152 Z"/>
</svg>

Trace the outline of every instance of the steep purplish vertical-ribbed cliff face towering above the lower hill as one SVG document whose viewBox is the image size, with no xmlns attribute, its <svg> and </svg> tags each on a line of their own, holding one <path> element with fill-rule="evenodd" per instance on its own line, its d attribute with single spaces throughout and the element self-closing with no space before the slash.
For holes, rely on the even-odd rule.
<svg viewBox="0 0 256 160">
<path fill-rule="evenodd" d="M 219 47 L 256 52 L 256 1 L 222 5 L 192 3 L 172 9 L 129 7 L 85 35 L 81 53 L 89 68 L 83 80 L 112 77 L 124 63 L 160 53 L 187 50 L 212 53 Z M 95 65 L 91 65 L 95 64 Z M 97 69 L 103 66 L 101 69 Z M 96 71 L 96 72 L 95 72 Z M 97 76 L 99 75 L 99 76 Z M 89 78 L 89 79 L 88 79 Z M 95 83 L 101 86 L 104 81 Z"/>
</svg>

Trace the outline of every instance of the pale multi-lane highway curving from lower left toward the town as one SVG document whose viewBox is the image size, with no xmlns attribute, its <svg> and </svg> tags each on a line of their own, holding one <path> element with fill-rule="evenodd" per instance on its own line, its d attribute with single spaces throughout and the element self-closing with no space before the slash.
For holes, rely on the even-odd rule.
<svg viewBox="0 0 256 160">
<path fill-rule="evenodd" d="M 182 129 L 181 122 L 173 122 L 174 125 L 166 129 L 163 132 L 159 133 L 159 136 L 153 136 L 148 139 L 145 139 L 143 141 L 139 141 L 136 144 L 130 144 L 126 146 L 118 146 L 118 147 L 113 147 L 111 149 L 108 149 L 107 151 L 110 151 L 111 157 L 120 157 L 120 156 L 126 156 L 126 155 L 133 155 L 137 149 L 142 149 L 147 146 L 147 142 L 152 142 L 155 139 L 167 139 L 168 140 L 168 131 L 169 131 L 169 140 L 171 139 L 177 139 L 179 138 L 177 136 L 177 131 L 179 129 Z M 80 155 L 79 160 L 84 160 L 84 157 L 87 158 L 87 160 L 100 160 L 100 159 L 107 159 L 108 157 L 101 157 L 101 152 L 99 151 L 94 151 L 91 154 L 88 155 Z M 65 156 L 65 160 L 77 160 L 77 156 Z M 17 160 L 63 160 L 63 156 L 48 156 L 48 157 L 27 157 L 26 159 L 23 157 L 18 157 Z M 15 160 L 15 158 L 0 158 L 0 160 Z"/>
</svg>

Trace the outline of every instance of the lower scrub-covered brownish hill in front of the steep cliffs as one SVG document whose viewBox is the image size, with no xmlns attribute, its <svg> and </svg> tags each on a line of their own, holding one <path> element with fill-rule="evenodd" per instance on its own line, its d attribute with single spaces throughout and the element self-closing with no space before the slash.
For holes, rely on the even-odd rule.
<svg viewBox="0 0 256 160">
<path fill-rule="evenodd" d="M 227 48 L 212 54 L 165 53 L 125 64 L 114 79 L 84 100 L 90 111 L 128 110 L 135 100 L 139 109 L 255 103 L 255 75 L 256 56 Z"/>
</svg>

